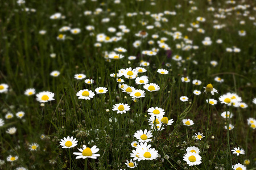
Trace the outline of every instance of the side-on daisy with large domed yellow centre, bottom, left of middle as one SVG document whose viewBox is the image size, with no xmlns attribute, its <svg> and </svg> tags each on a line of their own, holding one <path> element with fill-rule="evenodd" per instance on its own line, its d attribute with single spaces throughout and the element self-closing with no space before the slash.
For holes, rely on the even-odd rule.
<svg viewBox="0 0 256 170">
<path fill-rule="evenodd" d="M 92 148 L 86 147 L 85 145 L 82 146 L 82 148 L 79 148 L 80 152 L 73 152 L 74 155 L 79 155 L 76 156 L 76 159 L 85 159 L 85 158 L 92 158 L 92 159 L 97 159 L 100 154 L 96 154 L 100 149 L 97 148 L 96 145 L 94 145 Z"/>
</svg>

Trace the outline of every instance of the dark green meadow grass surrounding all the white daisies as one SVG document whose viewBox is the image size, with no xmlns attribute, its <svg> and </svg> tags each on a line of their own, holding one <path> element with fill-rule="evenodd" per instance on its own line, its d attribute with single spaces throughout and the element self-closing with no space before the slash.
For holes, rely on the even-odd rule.
<svg viewBox="0 0 256 170">
<path fill-rule="evenodd" d="M 207 1 L 195 1 L 193 5 L 188 1 L 121 1 L 114 4 L 113 1 L 92 2 L 86 1 L 79 5 L 81 1 L 26 1 L 24 5 L 18 6 L 16 1 L 0 2 L 0 84 L 9 85 L 9 91 L 0 94 L 0 118 L 5 121 L 5 125 L 0 127 L 1 140 L 1 160 L 5 164 L 2 169 L 15 169 L 25 167 L 28 169 L 129 169 L 125 165 L 126 160 L 130 160 L 130 153 L 134 149 L 130 143 L 135 141 L 134 133 L 139 129 L 151 130 L 148 125 L 147 109 L 151 107 L 163 108 L 165 116 L 174 119 L 171 126 L 164 127 L 160 133 L 153 132 L 154 140 L 152 147 L 158 150 L 161 158 L 152 161 L 142 160 L 137 162 L 137 169 L 185 169 L 191 168 L 183 160 L 185 150 L 189 146 L 199 147 L 202 163 L 196 167 L 199 169 L 214 169 L 224 167 L 231 169 L 236 163 L 243 164 L 245 159 L 250 160 L 247 169 L 255 167 L 255 130 L 247 125 L 247 118 L 256 116 L 256 105 L 252 103 L 256 97 L 256 33 L 255 20 L 249 20 L 248 16 L 255 16 L 254 1 L 241 3 L 236 1 L 236 5 L 226 4 L 225 1 L 213 1 L 209 5 Z M 155 2 L 155 6 L 150 5 Z M 175 6 L 180 4 L 181 8 Z M 245 10 L 230 11 L 225 13 L 226 18 L 214 18 L 218 13 L 218 8 L 230 8 L 233 6 L 250 5 L 246 11 L 248 16 L 238 15 Z M 35 8 L 36 12 L 22 11 L 24 7 Z M 197 10 L 189 12 L 192 6 Z M 208 7 L 214 7 L 215 11 L 207 11 Z M 95 11 L 102 8 L 102 13 L 98 15 L 85 16 L 84 11 Z M 110 9 L 110 10 L 108 10 Z M 160 22 L 162 27 L 146 29 L 141 22 L 147 25 L 154 25 L 155 20 L 150 15 L 140 15 L 139 12 L 150 11 L 157 14 L 164 11 L 176 11 L 177 15 L 164 15 L 168 22 Z M 49 16 L 61 12 L 65 19 L 51 20 Z M 110 12 L 115 12 L 115 16 L 110 16 Z M 137 12 L 133 17 L 126 16 L 127 12 Z M 191 23 L 196 22 L 196 18 L 202 16 L 206 19 L 200 23 L 199 28 L 203 28 L 205 33 L 199 33 L 196 28 L 192 32 L 187 31 Z M 110 18 L 109 23 L 102 23 L 103 18 Z M 217 24 L 225 24 L 222 29 L 214 29 L 213 20 Z M 240 24 L 244 20 L 245 24 Z M 179 24 L 185 27 L 179 27 Z M 101 42 L 101 48 L 94 47 L 96 35 L 105 33 L 113 37 L 115 33 L 108 32 L 109 27 L 117 28 L 118 25 L 126 25 L 130 29 L 129 33 L 122 36 L 118 42 Z M 59 29 L 64 25 L 71 25 L 71 28 L 80 28 L 81 33 L 73 35 L 64 32 L 66 40 L 58 41 L 56 37 L 60 34 Z M 86 25 L 93 25 L 95 36 L 90 36 L 85 29 Z M 165 31 L 175 32 L 176 27 L 182 36 L 188 36 L 193 41 L 193 45 L 199 49 L 184 51 L 176 48 L 176 44 L 184 42 L 182 39 L 174 40 Z M 46 35 L 40 35 L 40 30 L 46 30 Z M 238 31 L 243 29 L 246 36 L 239 36 Z M 148 36 L 141 39 L 135 33 L 145 30 Z M 184 59 L 181 66 L 177 65 L 171 57 L 167 57 L 166 51 L 160 49 L 156 40 L 154 45 L 148 45 L 147 41 L 152 40 L 151 35 L 158 34 L 167 37 L 166 44 L 171 48 L 172 56 L 179 55 Z M 212 45 L 204 46 L 202 41 L 205 37 L 210 37 Z M 158 39 L 158 40 L 159 40 Z M 217 44 L 216 40 L 221 39 L 222 44 Z M 134 48 L 133 42 L 142 40 L 139 48 Z M 104 51 L 111 52 L 119 46 L 127 49 L 125 58 L 118 61 L 107 62 L 104 59 Z M 228 53 L 226 48 L 237 46 L 240 53 Z M 143 60 L 150 62 L 150 66 L 145 67 L 150 83 L 160 86 L 157 92 L 146 91 L 146 97 L 139 99 L 135 103 L 128 94 L 118 88 L 115 78 L 110 77 L 111 73 L 117 73 L 119 69 L 126 69 L 139 66 L 142 50 L 159 48 L 156 56 L 144 56 Z M 51 58 L 50 54 L 56 53 L 56 58 Z M 138 56 L 130 61 L 129 56 Z M 191 59 L 187 59 L 191 57 Z M 197 61 L 195 65 L 193 61 Z M 218 65 L 213 67 L 210 61 L 217 61 Z M 165 63 L 171 63 L 171 67 L 166 67 Z M 164 63 L 164 64 L 163 64 Z M 156 70 L 163 68 L 169 71 L 167 75 L 160 75 Z M 50 76 L 53 70 L 60 71 L 57 77 Z M 74 78 L 75 74 L 83 73 L 86 78 L 92 78 L 94 84 L 85 84 L 84 80 Z M 189 76 L 191 82 L 181 82 L 181 77 Z M 224 79 L 223 83 L 214 81 L 216 76 Z M 143 86 L 135 84 L 134 80 L 125 79 L 125 83 L 137 89 L 143 90 Z M 200 86 L 192 84 L 193 79 L 201 80 Z M 204 87 L 212 83 L 218 94 L 207 95 L 203 93 Z M 103 95 L 96 94 L 91 100 L 78 99 L 76 93 L 88 88 L 94 91 L 97 87 L 107 87 L 108 92 Z M 35 88 L 36 93 L 50 91 L 55 94 L 53 101 L 45 103 L 44 107 L 36 101 L 35 96 L 26 96 L 24 91 L 27 88 Z M 200 90 L 201 95 L 193 95 L 193 90 Z M 235 108 L 225 107 L 220 104 L 218 97 L 227 92 L 234 92 L 242 97 L 248 107 Z M 189 101 L 183 103 L 180 96 L 187 96 Z M 217 105 L 208 105 L 205 100 L 215 99 Z M 130 111 L 126 114 L 117 114 L 112 111 L 112 107 L 117 103 L 130 105 Z M 109 109 L 110 112 L 106 112 Z M 231 121 L 234 129 L 229 131 L 229 145 L 227 131 L 224 129 L 226 120 L 220 116 L 224 111 L 232 112 L 234 116 L 227 121 Z M 25 116 L 11 118 L 7 120 L 7 112 L 15 114 L 24 111 Z M 109 118 L 117 118 L 117 122 L 109 122 Z M 195 122 L 193 126 L 184 126 L 183 118 L 190 118 Z M 209 118 L 209 126 L 207 130 Z M 130 119 L 133 122 L 130 122 Z M 15 127 L 17 131 L 14 135 L 6 133 L 8 128 Z M 192 139 L 197 132 L 204 134 L 201 141 Z M 40 139 L 45 134 L 46 139 Z M 79 141 L 79 145 L 74 148 L 65 149 L 59 145 L 60 139 L 73 136 Z M 214 138 L 212 138 L 212 136 Z M 206 138 L 207 137 L 207 138 Z M 28 146 L 31 143 L 38 143 L 39 150 L 30 151 Z M 100 148 L 97 154 L 101 156 L 97 159 L 88 159 L 85 167 L 84 159 L 75 159 L 73 152 L 78 152 L 77 148 L 82 145 L 92 147 L 96 145 Z M 245 150 L 245 155 L 236 156 L 230 154 L 234 147 Z M 230 150 L 229 150 L 230 148 Z M 204 150 L 204 152 L 203 152 Z M 70 152 L 69 152 L 70 151 Z M 71 155 L 70 155 L 71 153 Z M 6 162 L 9 155 L 17 155 L 19 159 L 11 164 Z M 166 156 L 168 155 L 168 156 Z M 71 157 L 69 157 L 71 156 Z M 168 157 L 168 159 L 167 159 Z M 163 159 L 163 160 L 162 160 Z M 51 164 L 49 160 L 55 160 Z M 228 162 L 228 163 L 227 163 Z M 231 162 L 231 163 L 230 163 Z M 191 169 L 196 169 L 193 166 Z"/>
</svg>

